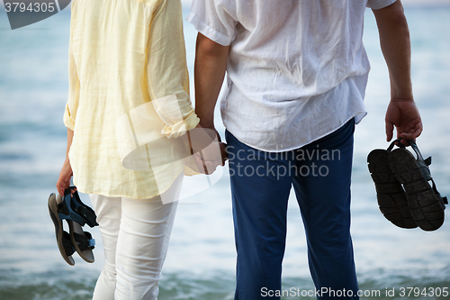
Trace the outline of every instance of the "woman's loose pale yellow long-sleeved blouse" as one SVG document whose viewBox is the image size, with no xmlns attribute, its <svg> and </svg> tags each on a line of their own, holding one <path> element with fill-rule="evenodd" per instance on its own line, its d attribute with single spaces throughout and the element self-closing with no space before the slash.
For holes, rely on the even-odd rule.
<svg viewBox="0 0 450 300">
<path fill-rule="evenodd" d="M 145 199 L 185 167 L 189 98 L 180 0 L 75 0 L 65 125 L 83 193 Z"/>
</svg>

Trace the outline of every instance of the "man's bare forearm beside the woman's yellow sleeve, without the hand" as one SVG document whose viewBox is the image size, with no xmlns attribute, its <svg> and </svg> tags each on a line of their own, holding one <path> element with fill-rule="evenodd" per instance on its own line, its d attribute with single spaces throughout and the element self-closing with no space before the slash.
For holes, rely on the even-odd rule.
<svg viewBox="0 0 450 300">
<path fill-rule="evenodd" d="M 195 113 L 202 127 L 214 127 L 214 107 L 225 77 L 228 54 L 229 46 L 198 34 L 194 65 Z"/>
</svg>

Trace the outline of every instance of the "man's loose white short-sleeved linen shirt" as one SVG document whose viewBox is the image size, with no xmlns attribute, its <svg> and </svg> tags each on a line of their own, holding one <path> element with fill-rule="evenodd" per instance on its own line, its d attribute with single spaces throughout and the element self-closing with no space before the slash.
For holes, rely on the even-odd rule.
<svg viewBox="0 0 450 300">
<path fill-rule="evenodd" d="M 396 0 L 193 0 L 187 21 L 230 45 L 225 127 L 257 150 L 298 149 L 365 116 L 365 7 Z"/>
</svg>

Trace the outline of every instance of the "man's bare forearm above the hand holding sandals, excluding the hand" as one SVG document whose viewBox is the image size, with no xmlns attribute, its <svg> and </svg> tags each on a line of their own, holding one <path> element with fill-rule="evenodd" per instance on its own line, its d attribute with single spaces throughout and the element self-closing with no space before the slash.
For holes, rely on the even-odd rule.
<svg viewBox="0 0 450 300">
<path fill-rule="evenodd" d="M 383 56 L 389 68 L 392 100 L 412 100 L 410 78 L 410 31 L 398 0 L 392 5 L 374 10 L 380 32 Z"/>
</svg>

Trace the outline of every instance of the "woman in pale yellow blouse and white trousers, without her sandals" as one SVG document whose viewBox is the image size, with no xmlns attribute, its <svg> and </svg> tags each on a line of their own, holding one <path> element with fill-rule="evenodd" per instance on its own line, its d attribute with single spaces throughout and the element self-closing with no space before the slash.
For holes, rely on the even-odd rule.
<svg viewBox="0 0 450 300">
<path fill-rule="evenodd" d="M 173 138 L 199 123 L 181 3 L 75 0 L 71 18 L 58 193 L 73 175 L 97 214 L 105 265 L 94 300 L 156 299 L 183 173 L 193 173 Z"/>
</svg>

